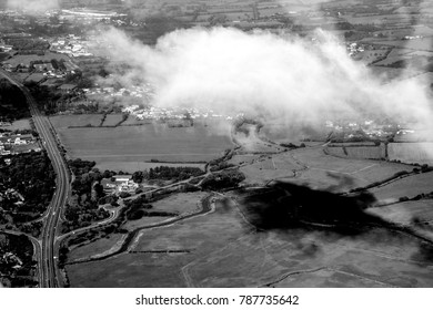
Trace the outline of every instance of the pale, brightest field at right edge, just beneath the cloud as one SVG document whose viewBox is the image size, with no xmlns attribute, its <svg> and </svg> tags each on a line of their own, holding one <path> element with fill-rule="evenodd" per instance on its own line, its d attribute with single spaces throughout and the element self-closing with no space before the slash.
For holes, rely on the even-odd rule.
<svg viewBox="0 0 433 310">
<path fill-rule="evenodd" d="M 390 143 L 387 146 L 387 154 L 390 161 L 433 164 L 433 143 Z"/>
</svg>

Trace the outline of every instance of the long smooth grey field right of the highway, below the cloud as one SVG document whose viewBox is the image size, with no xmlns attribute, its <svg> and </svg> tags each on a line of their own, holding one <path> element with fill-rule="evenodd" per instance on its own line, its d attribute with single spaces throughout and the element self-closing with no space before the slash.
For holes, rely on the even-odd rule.
<svg viewBox="0 0 433 310">
<path fill-rule="evenodd" d="M 98 116 L 100 117 L 83 115 L 80 123 L 100 122 Z M 67 128 L 68 125 L 77 123 L 70 117 L 66 116 L 64 121 L 56 118 L 53 122 L 68 155 L 72 158 L 95 161 L 98 164 L 140 163 L 151 159 L 201 162 L 219 157 L 224 149 L 232 147 L 229 132 L 224 134 L 200 124 L 182 128 L 170 128 L 163 124 Z"/>
</svg>

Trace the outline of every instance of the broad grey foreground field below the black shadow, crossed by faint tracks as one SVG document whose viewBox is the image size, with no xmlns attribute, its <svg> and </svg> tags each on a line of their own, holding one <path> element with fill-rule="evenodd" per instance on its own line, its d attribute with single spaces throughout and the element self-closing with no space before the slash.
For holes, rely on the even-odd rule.
<svg viewBox="0 0 433 310">
<path fill-rule="evenodd" d="M 221 200 L 214 213 L 144 230 L 131 250 L 102 261 L 67 266 L 71 286 L 433 285 L 432 265 L 422 256 L 423 245 L 410 236 L 382 228 L 356 236 L 312 227 L 256 231 L 233 203 Z"/>
</svg>

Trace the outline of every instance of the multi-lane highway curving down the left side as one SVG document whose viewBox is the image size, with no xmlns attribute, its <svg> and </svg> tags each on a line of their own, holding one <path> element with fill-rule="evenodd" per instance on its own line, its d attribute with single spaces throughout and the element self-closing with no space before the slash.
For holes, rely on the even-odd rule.
<svg viewBox="0 0 433 310">
<path fill-rule="evenodd" d="M 37 250 L 37 254 L 40 254 L 38 258 L 38 266 L 41 267 L 41 270 L 39 270 L 40 287 L 61 287 L 62 278 L 57 265 L 59 244 L 56 242 L 56 236 L 58 235 L 58 228 L 60 228 L 60 216 L 68 198 L 69 169 L 59 152 L 56 137 L 50 131 L 51 125 L 49 120 L 39 112 L 29 91 L 20 82 L 13 80 L 6 71 L 0 70 L 0 75 L 17 85 L 26 95 L 36 130 L 41 137 L 56 172 L 56 192 L 46 213 L 47 216 L 43 218 L 42 235 L 40 237 L 41 248 L 40 251 Z"/>
</svg>

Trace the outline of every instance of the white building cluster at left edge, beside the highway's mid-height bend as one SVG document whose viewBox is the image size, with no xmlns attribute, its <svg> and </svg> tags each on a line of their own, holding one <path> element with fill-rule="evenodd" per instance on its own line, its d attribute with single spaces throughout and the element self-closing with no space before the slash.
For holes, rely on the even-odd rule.
<svg viewBox="0 0 433 310">
<path fill-rule="evenodd" d="M 41 151 L 41 147 L 33 135 L 0 133 L 0 156 L 16 155 L 31 151 Z"/>
</svg>

